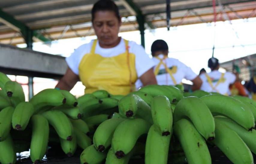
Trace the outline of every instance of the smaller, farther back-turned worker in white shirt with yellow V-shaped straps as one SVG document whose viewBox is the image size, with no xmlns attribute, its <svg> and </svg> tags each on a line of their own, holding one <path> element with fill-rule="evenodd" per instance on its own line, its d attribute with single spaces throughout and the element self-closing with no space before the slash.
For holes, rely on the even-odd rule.
<svg viewBox="0 0 256 164">
<path fill-rule="evenodd" d="M 229 95 L 229 85 L 235 82 L 236 76 L 231 72 L 219 72 L 219 60 L 217 58 L 210 58 L 208 60 L 208 67 L 211 69 L 211 72 L 200 75 L 203 81 L 201 90 Z"/>
</svg>

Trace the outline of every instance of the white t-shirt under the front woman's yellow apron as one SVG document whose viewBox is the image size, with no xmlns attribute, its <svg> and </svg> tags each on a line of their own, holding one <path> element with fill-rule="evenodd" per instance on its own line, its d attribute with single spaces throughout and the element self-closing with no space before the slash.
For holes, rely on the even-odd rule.
<svg viewBox="0 0 256 164">
<path fill-rule="evenodd" d="M 76 74 L 79 75 L 79 64 L 83 58 L 83 56 L 89 52 L 91 52 L 91 47 L 94 40 L 92 40 L 88 44 L 83 44 L 78 47 L 70 57 L 66 58 L 67 65 L 70 69 Z M 135 54 L 135 67 L 137 72 L 137 77 L 139 78 L 145 72 L 147 72 L 150 68 L 152 68 L 155 64 L 152 59 L 149 58 L 144 48 L 141 45 L 136 44 L 134 41 L 129 41 L 129 53 Z M 102 48 L 99 45 L 99 41 L 97 41 L 97 45 L 95 48 L 95 53 L 99 54 L 103 57 L 113 57 L 117 56 L 121 53 L 125 52 L 125 43 L 124 39 L 121 39 L 120 43 L 113 48 Z"/>
</svg>

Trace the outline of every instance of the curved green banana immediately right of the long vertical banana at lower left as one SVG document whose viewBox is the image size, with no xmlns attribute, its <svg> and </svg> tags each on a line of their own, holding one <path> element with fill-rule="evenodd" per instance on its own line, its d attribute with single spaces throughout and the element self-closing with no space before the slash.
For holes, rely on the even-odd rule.
<svg viewBox="0 0 256 164">
<path fill-rule="evenodd" d="M 59 137 L 68 141 L 72 140 L 73 126 L 63 112 L 58 110 L 49 110 L 43 112 L 42 115 L 48 120 L 49 124 L 53 126 Z"/>
</svg>

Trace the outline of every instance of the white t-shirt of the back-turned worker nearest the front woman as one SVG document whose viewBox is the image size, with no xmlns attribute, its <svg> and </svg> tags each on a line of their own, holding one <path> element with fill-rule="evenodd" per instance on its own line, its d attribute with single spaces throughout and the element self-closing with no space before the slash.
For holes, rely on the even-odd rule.
<svg viewBox="0 0 256 164">
<path fill-rule="evenodd" d="M 164 55 L 158 55 L 159 58 L 163 58 Z M 159 64 L 159 59 L 153 58 L 153 61 L 155 63 L 154 70 L 156 69 L 156 66 Z M 173 74 L 174 79 L 176 80 L 176 83 L 181 83 L 182 79 L 185 78 L 187 80 L 194 80 L 197 75 L 195 72 L 192 71 L 192 69 L 182 62 L 180 62 L 178 59 L 174 58 L 166 58 L 163 60 L 163 62 L 167 65 L 168 68 L 172 68 L 173 66 L 177 66 L 177 72 Z M 156 75 L 156 81 L 159 85 L 174 85 L 174 82 L 171 79 L 171 76 L 168 72 L 165 71 L 165 67 L 163 65 L 159 68 L 159 73 Z M 142 83 L 140 81 L 137 81 L 136 88 L 139 88 L 142 86 Z"/>
</svg>

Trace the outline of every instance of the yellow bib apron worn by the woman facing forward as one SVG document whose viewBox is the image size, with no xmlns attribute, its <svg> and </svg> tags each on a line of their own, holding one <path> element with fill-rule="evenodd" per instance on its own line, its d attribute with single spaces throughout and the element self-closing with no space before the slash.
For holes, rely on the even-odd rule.
<svg viewBox="0 0 256 164">
<path fill-rule="evenodd" d="M 85 54 L 79 64 L 79 78 L 86 87 L 85 93 L 106 90 L 112 95 L 127 95 L 135 90 L 135 55 L 129 53 L 128 41 L 124 42 L 124 53 L 102 57 L 95 54 L 97 40 L 94 40 L 91 52 Z"/>
</svg>

